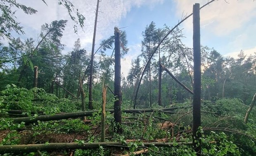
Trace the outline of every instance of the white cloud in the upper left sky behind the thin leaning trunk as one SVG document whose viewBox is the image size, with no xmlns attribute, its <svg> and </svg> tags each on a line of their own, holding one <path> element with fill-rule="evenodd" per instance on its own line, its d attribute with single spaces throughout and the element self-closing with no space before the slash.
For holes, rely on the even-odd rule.
<svg viewBox="0 0 256 156">
<path fill-rule="evenodd" d="M 40 26 L 44 23 L 51 23 L 53 20 L 68 19 L 69 22 L 63 33 L 62 44 L 65 44 L 67 49 L 71 49 L 76 39 L 80 38 L 82 48 L 86 48 L 86 50 L 89 51 L 92 46 L 97 0 L 72 1 L 73 5 L 79 9 L 79 12 L 86 18 L 84 29 L 78 29 L 77 34 L 74 33 L 74 23 L 70 20 L 66 8 L 58 6 L 57 0 L 45 0 L 45 2 L 48 6 L 41 0 L 19 0 L 19 3 L 38 10 L 38 13 L 35 15 L 26 15 L 20 10 L 17 12 L 18 21 L 21 22 L 21 25 L 24 26 L 26 30 L 28 30 L 26 31 L 26 35 L 29 37 L 34 36 L 34 38 L 36 38 L 37 34 L 40 33 Z M 122 17 L 126 16 L 132 7 L 140 7 L 142 5 L 153 7 L 155 3 L 159 2 L 163 2 L 163 0 L 102 0 L 100 2 L 100 12 L 97 20 L 96 45 L 100 40 L 113 35 L 115 26 L 121 27 L 119 21 Z M 37 34 L 34 34 L 35 32 L 37 32 Z"/>
</svg>

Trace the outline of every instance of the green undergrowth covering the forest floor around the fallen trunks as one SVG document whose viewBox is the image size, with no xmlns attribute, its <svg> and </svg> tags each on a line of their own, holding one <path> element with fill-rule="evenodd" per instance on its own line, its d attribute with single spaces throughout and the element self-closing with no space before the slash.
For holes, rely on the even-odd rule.
<svg viewBox="0 0 256 156">
<path fill-rule="evenodd" d="M 114 99 L 110 99 L 108 108 L 113 107 Z M 94 103 L 95 108 L 100 108 L 100 102 Z M 129 107 L 128 101 L 123 101 L 124 107 Z M 172 107 L 173 114 L 158 112 L 159 106 L 153 106 L 156 111 L 142 114 L 123 113 L 121 125 L 123 133 L 115 133 L 116 123 L 109 112 L 106 113 L 106 141 L 123 142 L 126 147 L 97 149 L 76 149 L 73 151 L 38 151 L 20 155 L 49 156 L 49 155 L 75 155 L 75 156 L 106 156 L 110 154 L 130 154 L 144 150 L 142 156 L 196 156 L 192 145 L 179 145 L 179 142 L 192 141 L 192 102 L 176 103 Z M 126 109 L 126 108 L 122 108 Z M 201 154 L 206 156 L 246 156 L 256 155 L 255 147 L 255 110 L 249 117 L 249 123 L 243 123 L 248 106 L 240 99 L 217 99 L 216 101 L 203 101 L 201 105 L 201 133 L 198 146 Z M 8 85 L 7 89 L 0 92 L 0 130 L 5 132 L 0 145 L 19 145 L 27 142 L 36 144 L 51 143 L 47 138 L 59 136 L 73 137 L 70 142 L 100 142 L 101 111 L 81 119 L 62 119 L 59 121 L 38 121 L 33 124 L 21 122 L 13 124 L 10 117 L 13 115 L 8 110 L 22 110 L 21 116 L 48 115 L 59 112 L 76 112 L 81 110 L 78 99 L 58 99 L 53 94 L 46 93 L 43 89 L 30 90 Z M 16 117 L 16 116 L 15 116 Z M 80 138 L 79 138 L 80 137 Z M 29 138 L 29 141 L 28 141 Z M 48 139 L 48 140 L 47 140 Z M 170 147 L 145 147 L 144 142 L 172 142 Z M 12 154 L 0 154 L 11 156 Z M 15 155 L 15 154 L 13 154 Z"/>
</svg>

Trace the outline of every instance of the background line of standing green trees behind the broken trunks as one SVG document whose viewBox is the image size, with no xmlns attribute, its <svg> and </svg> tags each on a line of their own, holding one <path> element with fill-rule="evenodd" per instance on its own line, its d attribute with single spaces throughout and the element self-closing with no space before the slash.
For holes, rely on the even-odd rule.
<svg viewBox="0 0 256 156">
<path fill-rule="evenodd" d="M 90 54 L 81 48 L 80 39 L 75 41 L 72 51 L 63 54 L 61 37 L 65 25 L 65 20 L 42 25 L 38 43 L 32 38 L 25 41 L 17 38 L 10 39 L 8 45 L 1 44 L 0 89 L 12 83 L 30 89 L 33 87 L 33 67 L 37 66 L 38 87 L 58 97 L 69 98 L 71 95 L 59 87 L 61 85 L 79 97 L 80 82 L 89 83 Z M 151 22 L 142 32 L 141 54 L 132 60 L 128 75 L 122 78 L 122 90 L 125 91 L 123 100 L 130 101 L 131 105 L 143 65 L 169 30 L 166 25 L 164 28 L 156 28 L 156 24 Z M 157 49 L 158 54 L 149 62 L 140 85 L 136 99 L 138 107 L 152 107 L 153 104 L 167 106 L 192 98 L 161 67 L 161 64 L 164 65 L 180 82 L 193 90 L 193 49 L 183 44 L 183 37 L 182 30 L 176 28 Z M 123 57 L 128 52 L 125 31 L 121 32 L 120 39 Z M 109 52 L 111 56 L 106 54 Z M 100 100 L 103 82 L 114 89 L 114 35 L 101 41 L 94 57 L 92 96 L 95 102 Z M 202 99 L 237 97 L 245 103 L 251 101 L 256 83 L 255 53 L 247 56 L 241 50 L 237 58 L 223 57 L 213 48 L 201 46 L 201 62 Z M 88 85 L 83 87 L 88 90 Z"/>
</svg>

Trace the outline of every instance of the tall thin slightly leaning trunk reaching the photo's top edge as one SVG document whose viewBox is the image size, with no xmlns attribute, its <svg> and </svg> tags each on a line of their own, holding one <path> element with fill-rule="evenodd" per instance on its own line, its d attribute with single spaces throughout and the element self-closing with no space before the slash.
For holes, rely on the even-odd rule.
<svg viewBox="0 0 256 156">
<path fill-rule="evenodd" d="M 94 47 L 95 47 L 95 37 L 96 37 L 96 28 L 97 28 L 97 18 L 99 11 L 100 0 L 97 0 L 96 15 L 94 22 L 94 31 L 92 39 L 92 53 L 91 53 L 91 62 L 90 62 L 90 79 L 89 79 L 89 109 L 92 109 L 92 73 L 93 73 L 93 56 L 94 56 Z"/>
</svg>

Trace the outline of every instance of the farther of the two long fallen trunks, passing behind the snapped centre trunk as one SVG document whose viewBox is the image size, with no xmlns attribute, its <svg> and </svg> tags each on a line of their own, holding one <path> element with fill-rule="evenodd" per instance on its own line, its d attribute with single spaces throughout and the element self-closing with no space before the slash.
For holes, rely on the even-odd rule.
<svg viewBox="0 0 256 156">
<path fill-rule="evenodd" d="M 164 108 L 160 110 L 156 109 L 130 109 L 130 110 L 122 110 L 122 112 L 126 113 L 142 113 L 142 112 L 154 112 L 154 111 L 168 111 L 168 110 L 175 110 L 182 107 L 172 107 L 172 108 Z M 114 113 L 114 110 L 106 110 L 107 112 Z M 50 120 L 60 120 L 60 119 L 69 119 L 73 117 L 87 117 L 92 116 L 93 113 L 98 112 L 98 110 L 92 111 L 84 111 L 84 112 L 68 112 L 62 114 L 55 114 L 55 115 L 40 115 L 38 117 L 16 117 L 10 118 L 13 120 L 13 123 L 21 123 L 25 122 L 26 124 L 34 123 L 37 121 L 50 121 Z"/>
</svg>

